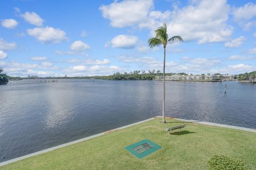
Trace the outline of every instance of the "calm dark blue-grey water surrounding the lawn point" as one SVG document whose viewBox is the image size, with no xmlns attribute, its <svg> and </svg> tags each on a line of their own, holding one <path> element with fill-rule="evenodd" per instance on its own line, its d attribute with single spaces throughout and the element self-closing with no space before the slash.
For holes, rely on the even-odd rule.
<svg viewBox="0 0 256 170">
<path fill-rule="evenodd" d="M 162 82 L 7 84 L 0 86 L 0 99 L 3 162 L 161 115 Z M 256 85 L 166 82 L 166 114 L 256 128 Z"/>
</svg>

